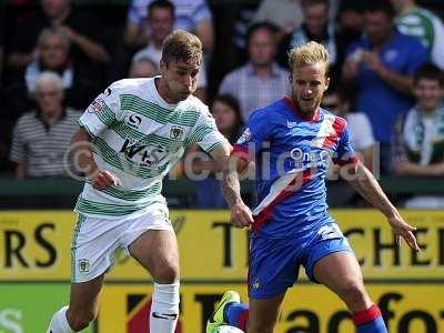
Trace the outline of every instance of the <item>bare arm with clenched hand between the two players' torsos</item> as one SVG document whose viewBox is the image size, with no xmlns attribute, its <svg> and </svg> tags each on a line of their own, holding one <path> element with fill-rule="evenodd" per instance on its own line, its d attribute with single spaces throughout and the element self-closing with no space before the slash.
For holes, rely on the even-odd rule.
<svg viewBox="0 0 444 333">
<path fill-rule="evenodd" d="M 223 144 L 211 152 L 211 157 L 220 164 L 222 170 L 221 191 L 231 211 L 231 223 L 236 228 L 249 226 L 253 223 L 251 210 L 241 196 L 239 172 L 248 168 L 248 162 L 230 157 L 231 147 Z"/>
</svg>

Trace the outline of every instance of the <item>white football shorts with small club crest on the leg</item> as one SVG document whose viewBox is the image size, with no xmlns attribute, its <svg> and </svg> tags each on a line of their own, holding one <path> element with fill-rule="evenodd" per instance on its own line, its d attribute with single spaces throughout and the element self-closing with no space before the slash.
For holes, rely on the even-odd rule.
<svg viewBox="0 0 444 333">
<path fill-rule="evenodd" d="M 132 218 L 109 220 L 79 213 L 71 244 L 71 282 L 91 281 L 113 264 L 114 252 L 124 249 L 148 230 L 174 232 L 164 203 L 153 203 Z"/>
</svg>

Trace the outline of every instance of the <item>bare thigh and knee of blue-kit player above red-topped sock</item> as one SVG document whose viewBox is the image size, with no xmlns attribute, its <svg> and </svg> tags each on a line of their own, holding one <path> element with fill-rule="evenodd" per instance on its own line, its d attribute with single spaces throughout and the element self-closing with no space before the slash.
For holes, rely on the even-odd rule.
<svg viewBox="0 0 444 333">
<path fill-rule="evenodd" d="M 314 278 L 337 294 L 352 311 L 371 305 L 364 287 L 360 264 L 349 251 L 331 253 L 320 259 L 313 268 Z"/>
</svg>

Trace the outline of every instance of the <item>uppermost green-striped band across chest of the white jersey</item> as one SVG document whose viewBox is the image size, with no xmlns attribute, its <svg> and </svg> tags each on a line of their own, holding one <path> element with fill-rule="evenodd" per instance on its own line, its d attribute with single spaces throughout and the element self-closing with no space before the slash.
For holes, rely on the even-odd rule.
<svg viewBox="0 0 444 333">
<path fill-rule="evenodd" d="M 199 111 L 172 111 L 143 100 L 134 94 L 121 94 L 120 102 L 122 110 L 129 110 L 142 114 L 143 117 L 162 124 L 173 123 L 192 128 L 200 117 Z"/>
</svg>

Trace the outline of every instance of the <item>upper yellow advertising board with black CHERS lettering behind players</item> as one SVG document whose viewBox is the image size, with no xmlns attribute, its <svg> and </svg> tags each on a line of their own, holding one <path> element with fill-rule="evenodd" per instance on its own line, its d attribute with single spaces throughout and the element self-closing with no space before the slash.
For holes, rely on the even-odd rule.
<svg viewBox="0 0 444 333">
<path fill-rule="evenodd" d="M 420 253 L 397 249 L 384 216 L 371 210 L 337 210 L 369 281 L 444 281 L 444 212 L 404 211 L 417 226 Z M 225 211 L 172 211 L 181 252 L 182 281 L 242 282 L 248 266 L 248 232 L 230 225 Z M 75 214 L 60 211 L 0 213 L 0 282 L 68 281 Z M 302 278 L 305 279 L 305 278 Z M 149 280 L 134 260 L 118 254 L 108 281 Z"/>
</svg>

